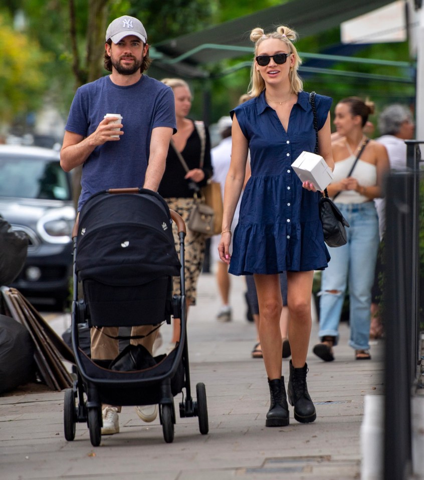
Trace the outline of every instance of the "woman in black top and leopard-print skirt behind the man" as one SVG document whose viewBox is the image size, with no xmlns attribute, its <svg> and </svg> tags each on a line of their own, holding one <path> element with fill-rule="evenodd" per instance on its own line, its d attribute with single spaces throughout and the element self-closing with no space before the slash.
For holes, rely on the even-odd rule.
<svg viewBox="0 0 424 480">
<path fill-rule="evenodd" d="M 191 92 L 186 82 L 180 79 L 163 79 L 172 88 L 175 97 L 177 133 L 173 135 L 166 157 L 166 168 L 158 193 L 166 200 L 169 208 L 175 210 L 187 223 L 194 198 L 199 187 L 206 184 L 212 175 L 210 163 L 209 132 L 201 123 L 186 118 L 191 108 Z M 189 171 L 184 169 L 177 152 L 182 155 Z M 179 252 L 179 239 L 174 229 L 175 247 Z M 187 312 L 189 305 L 196 303 L 197 279 L 200 274 L 205 250 L 205 237 L 187 228 L 185 237 L 185 295 Z M 173 290 L 180 291 L 179 277 L 173 279 Z M 173 334 L 167 351 L 175 348 L 179 341 L 180 323 L 174 319 Z"/>
</svg>

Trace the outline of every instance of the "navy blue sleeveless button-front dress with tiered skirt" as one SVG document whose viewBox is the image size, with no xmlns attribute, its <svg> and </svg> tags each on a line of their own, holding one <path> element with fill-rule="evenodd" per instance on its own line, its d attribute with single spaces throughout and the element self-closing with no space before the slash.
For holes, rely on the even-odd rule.
<svg viewBox="0 0 424 480">
<path fill-rule="evenodd" d="M 332 99 L 316 95 L 318 130 L 327 120 Z M 265 91 L 236 107 L 249 141 L 252 177 L 240 206 L 229 272 L 234 275 L 320 270 L 330 255 L 319 219 L 319 193 L 302 187 L 291 164 L 315 149 L 309 94 L 300 92 L 286 132 L 265 101 Z"/>
</svg>

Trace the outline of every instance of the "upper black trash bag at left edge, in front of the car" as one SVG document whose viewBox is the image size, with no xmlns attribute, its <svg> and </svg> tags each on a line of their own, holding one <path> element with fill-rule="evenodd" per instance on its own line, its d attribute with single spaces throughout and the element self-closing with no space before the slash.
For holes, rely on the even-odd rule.
<svg viewBox="0 0 424 480">
<path fill-rule="evenodd" d="M 28 236 L 0 215 L 0 285 L 9 285 L 21 273 L 27 252 Z"/>
</svg>

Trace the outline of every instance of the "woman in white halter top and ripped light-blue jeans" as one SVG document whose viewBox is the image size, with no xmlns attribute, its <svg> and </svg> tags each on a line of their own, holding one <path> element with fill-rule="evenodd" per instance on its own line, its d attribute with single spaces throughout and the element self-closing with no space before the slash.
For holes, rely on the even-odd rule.
<svg viewBox="0 0 424 480">
<path fill-rule="evenodd" d="M 369 360 L 371 287 L 379 244 L 378 216 L 374 198 L 382 196 L 381 184 L 389 167 L 385 147 L 363 133 L 373 104 L 360 98 L 341 100 L 335 109 L 334 125 L 341 135 L 333 143 L 334 178 L 328 195 L 350 225 L 347 244 L 330 248 L 331 262 L 322 273 L 320 292 L 321 343 L 313 351 L 324 361 L 334 360 L 340 314 L 349 284 L 350 339 L 357 360 Z M 356 158 L 359 159 L 352 169 Z M 350 173 L 351 171 L 351 173 Z M 349 175 L 350 173 L 350 175 Z"/>
</svg>

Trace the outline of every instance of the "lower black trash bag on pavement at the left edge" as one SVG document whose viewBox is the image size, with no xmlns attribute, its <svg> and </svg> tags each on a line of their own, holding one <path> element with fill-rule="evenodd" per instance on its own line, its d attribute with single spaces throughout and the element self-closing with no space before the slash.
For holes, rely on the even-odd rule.
<svg viewBox="0 0 424 480">
<path fill-rule="evenodd" d="M 15 319 L 0 315 L 0 393 L 35 378 L 35 366 L 30 332 Z"/>
</svg>

